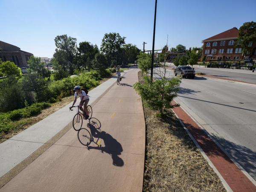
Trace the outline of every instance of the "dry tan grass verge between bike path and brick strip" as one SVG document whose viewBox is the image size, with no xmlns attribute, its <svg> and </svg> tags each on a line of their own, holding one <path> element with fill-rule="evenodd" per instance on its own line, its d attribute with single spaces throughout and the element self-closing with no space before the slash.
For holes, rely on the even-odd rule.
<svg viewBox="0 0 256 192">
<path fill-rule="evenodd" d="M 139 81 L 143 82 L 139 72 Z M 226 191 L 170 110 L 156 116 L 143 105 L 146 149 L 143 191 Z"/>
</svg>

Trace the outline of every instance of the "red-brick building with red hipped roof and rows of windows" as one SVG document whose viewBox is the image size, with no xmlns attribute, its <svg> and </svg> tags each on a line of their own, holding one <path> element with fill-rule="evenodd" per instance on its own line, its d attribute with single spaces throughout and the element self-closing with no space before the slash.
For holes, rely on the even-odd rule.
<svg viewBox="0 0 256 192">
<path fill-rule="evenodd" d="M 250 42 L 248 47 L 252 47 L 252 51 L 243 55 L 242 48 L 239 47 L 238 32 L 239 30 L 234 27 L 203 40 L 202 57 L 205 55 L 207 60 L 216 61 L 241 61 L 250 58 L 256 60 L 256 42 Z"/>
</svg>

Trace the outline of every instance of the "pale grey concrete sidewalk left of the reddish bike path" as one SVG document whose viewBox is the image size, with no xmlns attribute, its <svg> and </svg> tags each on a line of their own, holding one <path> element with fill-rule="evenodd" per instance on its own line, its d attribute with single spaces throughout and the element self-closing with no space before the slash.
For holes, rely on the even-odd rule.
<svg viewBox="0 0 256 192">
<path fill-rule="evenodd" d="M 125 73 L 122 73 L 122 75 L 124 74 Z M 115 82 L 116 79 L 111 78 L 93 90 L 90 90 L 89 105 L 95 102 L 96 99 L 98 99 L 102 93 L 108 90 L 108 88 Z M 0 143 L 0 177 L 17 166 L 20 162 L 26 159 L 26 157 L 29 157 L 30 154 L 44 145 L 44 143 L 47 143 L 47 141 L 64 127 L 72 125 L 73 116 L 75 114 L 75 110 L 72 112 L 69 111 L 69 107 L 72 103 L 73 102 L 55 113 L 52 113 L 47 118 L 32 125 L 11 139 Z"/>
</svg>

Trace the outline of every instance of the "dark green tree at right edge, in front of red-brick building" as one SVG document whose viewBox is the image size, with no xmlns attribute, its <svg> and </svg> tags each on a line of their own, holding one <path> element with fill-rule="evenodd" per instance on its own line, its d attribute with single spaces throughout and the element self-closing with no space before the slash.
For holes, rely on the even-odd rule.
<svg viewBox="0 0 256 192">
<path fill-rule="evenodd" d="M 239 28 L 238 35 L 238 42 L 243 48 L 243 53 L 246 54 L 246 52 L 249 51 L 251 56 L 253 47 L 248 47 L 248 44 L 250 41 L 256 41 L 256 22 L 251 21 L 244 23 Z"/>
</svg>

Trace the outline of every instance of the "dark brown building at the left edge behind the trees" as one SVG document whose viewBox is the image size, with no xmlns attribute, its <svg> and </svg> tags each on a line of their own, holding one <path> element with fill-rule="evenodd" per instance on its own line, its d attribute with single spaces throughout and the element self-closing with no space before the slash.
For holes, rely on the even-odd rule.
<svg viewBox="0 0 256 192">
<path fill-rule="evenodd" d="M 30 52 L 22 51 L 19 47 L 0 41 L 0 59 L 2 61 L 12 61 L 18 67 L 27 67 Z"/>
</svg>

